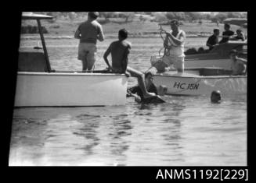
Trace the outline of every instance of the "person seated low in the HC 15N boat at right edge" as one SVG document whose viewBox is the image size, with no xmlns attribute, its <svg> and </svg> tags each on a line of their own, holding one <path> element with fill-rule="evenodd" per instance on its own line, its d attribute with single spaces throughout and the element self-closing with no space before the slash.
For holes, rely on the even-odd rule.
<svg viewBox="0 0 256 183">
<path fill-rule="evenodd" d="M 238 58 L 238 52 L 236 50 L 231 50 L 229 56 L 231 59 L 231 75 L 245 75 L 247 72 L 247 60 L 243 58 Z"/>
</svg>

